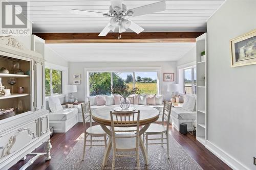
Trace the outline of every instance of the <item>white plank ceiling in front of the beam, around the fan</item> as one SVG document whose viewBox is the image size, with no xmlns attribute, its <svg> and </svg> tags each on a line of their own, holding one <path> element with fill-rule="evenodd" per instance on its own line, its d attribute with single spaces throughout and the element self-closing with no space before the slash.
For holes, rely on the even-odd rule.
<svg viewBox="0 0 256 170">
<path fill-rule="evenodd" d="M 128 9 L 155 3 L 155 0 L 124 0 Z M 206 20 L 224 0 L 168 0 L 166 10 L 133 17 L 146 32 L 206 31 Z M 33 32 L 100 32 L 108 23 L 106 17 L 70 14 L 69 9 L 108 13 L 110 0 L 29 0 L 28 18 Z M 129 30 L 127 30 L 129 31 Z"/>
</svg>

